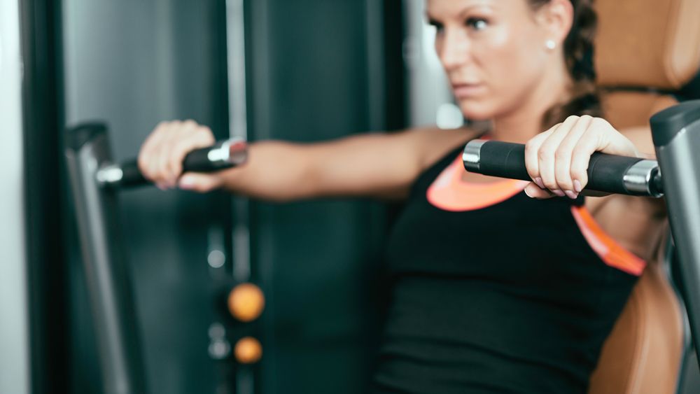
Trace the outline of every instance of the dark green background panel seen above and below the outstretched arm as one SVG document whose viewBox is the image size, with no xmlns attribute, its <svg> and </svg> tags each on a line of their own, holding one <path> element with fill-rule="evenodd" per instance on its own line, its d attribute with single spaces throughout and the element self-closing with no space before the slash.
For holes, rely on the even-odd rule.
<svg viewBox="0 0 700 394">
<path fill-rule="evenodd" d="M 384 64 L 383 45 L 368 45 L 384 37 L 367 36 L 368 20 L 381 24 L 382 7 L 368 4 L 248 4 L 255 139 L 325 141 L 384 127 L 372 124 L 370 73 L 377 70 L 369 68 L 370 57 Z M 262 393 L 367 391 L 379 332 L 384 206 L 258 202 L 252 218 L 253 261 L 268 300 Z"/>
</svg>

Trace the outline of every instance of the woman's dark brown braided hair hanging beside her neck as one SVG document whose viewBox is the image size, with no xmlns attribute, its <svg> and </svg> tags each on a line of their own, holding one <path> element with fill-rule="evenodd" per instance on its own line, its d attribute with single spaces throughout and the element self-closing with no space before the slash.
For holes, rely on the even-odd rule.
<svg viewBox="0 0 700 394">
<path fill-rule="evenodd" d="M 531 8 L 538 9 L 551 0 L 527 0 Z M 593 65 L 593 39 L 598 17 L 593 0 L 570 0 L 573 5 L 573 24 L 564 41 L 564 59 L 573 80 L 571 99 L 549 108 L 542 117 L 542 126 L 549 128 L 563 122 L 569 115 L 601 116 L 601 98 L 596 87 L 596 70 Z"/>
</svg>

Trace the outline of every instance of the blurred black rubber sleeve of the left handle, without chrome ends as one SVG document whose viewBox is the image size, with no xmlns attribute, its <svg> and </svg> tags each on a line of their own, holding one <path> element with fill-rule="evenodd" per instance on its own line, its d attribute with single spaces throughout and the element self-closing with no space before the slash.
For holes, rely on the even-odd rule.
<svg viewBox="0 0 700 394">
<path fill-rule="evenodd" d="M 224 162 L 222 160 L 212 162 L 211 160 L 209 160 L 209 152 L 211 150 L 220 148 L 222 143 L 225 143 L 225 141 L 220 141 L 216 143 L 216 145 L 209 146 L 207 148 L 195 149 L 192 152 L 188 153 L 185 156 L 185 159 L 182 163 L 183 173 L 190 171 L 214 172 L 222 169 L 235 167 L 235 163 Z M 120 168 L 123 172 L 122 179 L 118 182 L 118 186 L 120 188 L 130 188 L 150 183 L 150 181 L 146 180 L 146 178 L 144 178 L 144 176 L 141 174 L 141 171 L 139 170 L 139 165 L 137 164 L 137 160 L 130 160 L 128 162 L 124 162 L 120 165 Z"/>
</svg>

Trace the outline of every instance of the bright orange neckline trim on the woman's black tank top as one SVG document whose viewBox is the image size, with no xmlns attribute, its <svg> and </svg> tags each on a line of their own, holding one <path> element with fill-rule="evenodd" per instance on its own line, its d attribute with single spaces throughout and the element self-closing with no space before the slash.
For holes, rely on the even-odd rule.
<svg viewBox="0 0 700 394">
<path fill-rule="evenodd" d="M 492 183 L 462 181 L 461 155 L 435 178 L 426 192 L 428 202 L 444 211 L 474 211 L 504 202 L 522 192 L 527 181 L 504 179 Z"/>
</svg>

